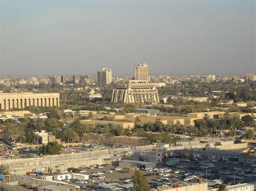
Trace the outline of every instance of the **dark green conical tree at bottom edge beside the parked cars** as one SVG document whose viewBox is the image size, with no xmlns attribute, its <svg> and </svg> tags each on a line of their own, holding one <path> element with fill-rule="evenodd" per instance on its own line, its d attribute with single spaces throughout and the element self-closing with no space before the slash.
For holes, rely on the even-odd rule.
<svg viewBox="0 0 256 191">
<path fill-rule="evenodd" d="M 134 191 L 149 191 L 149 185 L 142 172 L 136 171 L 132 176 L 133 190 Z"/>
</svg>

